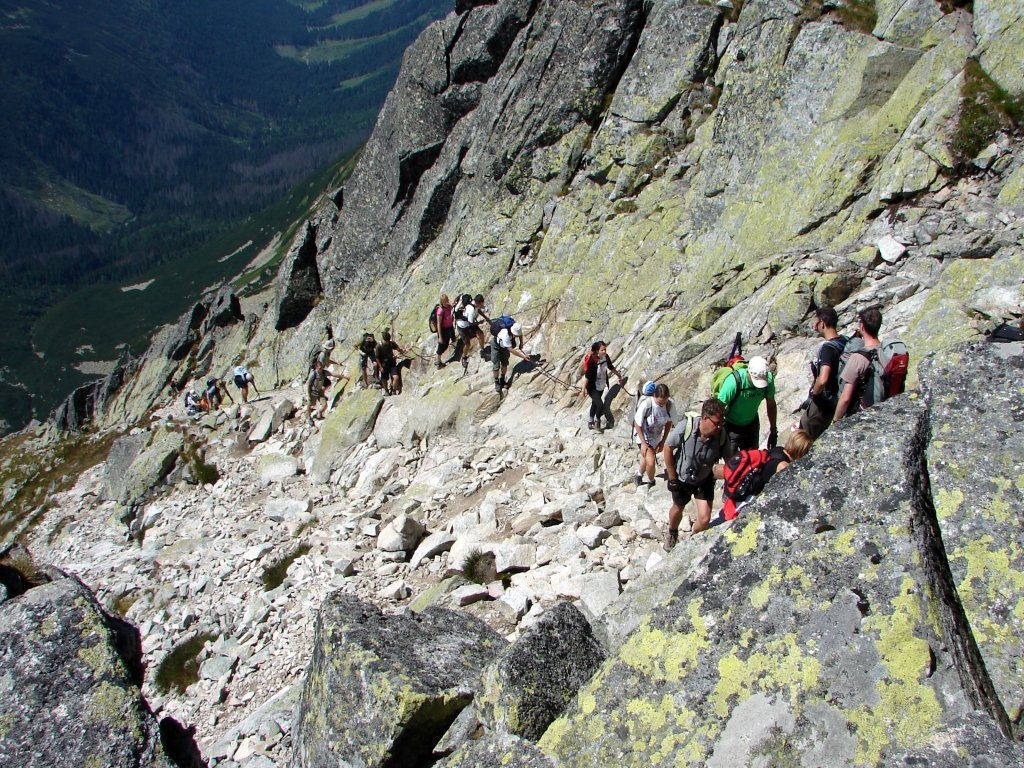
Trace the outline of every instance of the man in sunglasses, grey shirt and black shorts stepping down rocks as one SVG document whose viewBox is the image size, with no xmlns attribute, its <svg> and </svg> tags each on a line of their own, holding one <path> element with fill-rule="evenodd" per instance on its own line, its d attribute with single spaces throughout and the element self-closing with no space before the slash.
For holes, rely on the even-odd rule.
<svg viewBox="0 0 1024 768">
<path fill-rule="evenodd" d="M 725 428 L 725 404 L 710 397 L 700 407 L 700 414 L 686 414 L 665 441 L 663 458 L 668 488 L 672 492 L 669 508 L 669 529 L 663 546 L 671 550 L 679 541 L 679 522 L 683 507 L 693 499 L 697 519 L 691 532 L 705 530 L 711 523 L 711 504 L 715 499 L 714 467 L 720 459 L 732 455 L 732 442 L 722 431 Z"/>
</svg>

